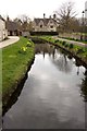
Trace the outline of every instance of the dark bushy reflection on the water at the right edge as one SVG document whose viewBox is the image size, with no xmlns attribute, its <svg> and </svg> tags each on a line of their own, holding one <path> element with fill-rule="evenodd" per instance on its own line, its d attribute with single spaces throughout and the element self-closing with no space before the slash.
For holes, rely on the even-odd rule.
<svg viewBox="0 0 87 131">
<path fill-rule="evenodd" d="M 85 71 L 85 79 L 83 79 L 80 91 L 82 91 L 82 96 L 84 97 L 84 100 L 87 102 L 87 70 Z"/>
</svg>

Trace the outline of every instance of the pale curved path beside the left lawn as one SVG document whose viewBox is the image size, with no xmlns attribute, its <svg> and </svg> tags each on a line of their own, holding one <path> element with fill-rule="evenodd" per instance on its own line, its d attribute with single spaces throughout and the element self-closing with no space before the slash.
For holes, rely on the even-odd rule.
<svg viewBox="0 0 87 131">
<path fill-rule="evenodd" d="M 3 40 L 3 41 L 0 43 L 0 48 L 12 45 L 12 44 L 16 43 L 18 39 L 20 39 L 18 36 L 9 36 L 9 39 Z"/>
</svg>

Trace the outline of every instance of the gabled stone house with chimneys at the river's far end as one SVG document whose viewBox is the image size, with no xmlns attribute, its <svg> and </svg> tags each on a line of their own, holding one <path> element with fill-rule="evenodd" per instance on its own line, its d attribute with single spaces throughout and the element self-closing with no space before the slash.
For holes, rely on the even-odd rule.
<svg viewBox="0 0 87 131">
<path fill-rule="evenodd" d="M 47 19 L 44 14 L 44 19 L 34 19 L 33 32 L 57 32 L 58 22 L 55 21 L 55 14 L 53 17 Z"/>
</svg>

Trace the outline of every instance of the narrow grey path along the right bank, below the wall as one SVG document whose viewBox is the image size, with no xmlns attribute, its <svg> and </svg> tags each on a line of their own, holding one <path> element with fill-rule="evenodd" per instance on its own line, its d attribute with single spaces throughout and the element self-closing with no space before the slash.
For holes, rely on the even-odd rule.
<svg viewBox="0 0 87 131">
<path fill-rule="evenodd" d="M 69 40 L 69 39 L 64 39 L 64 38 L 59 38 L 58 36 L 53 36 L 53 38 L 54 39 L 59 39 L 59 40 L 67 41 L 69 44 L 78 45 L 78 46 L 87 48 L 87 44 L 84 44 L 84 43 L 80 43 L 80 41 L 75 41 L 75 40 Z"/>
</svg>

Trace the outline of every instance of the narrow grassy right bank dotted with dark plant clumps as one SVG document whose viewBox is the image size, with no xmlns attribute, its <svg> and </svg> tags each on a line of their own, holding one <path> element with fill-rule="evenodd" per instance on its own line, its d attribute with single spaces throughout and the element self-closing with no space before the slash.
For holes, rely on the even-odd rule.
<svg viewBox="0 0 87 131">
<path fill-rule="evenodd" d="M 69 44 L 64 40 L 59 40 L 59 39 L 53 39 L 52 37 L 49 36 L 42 36 L 40 37 L 47 41 L 50 41 L 54 45 L 58 45 L 60 47 L 62 47 L 63 49 L 69 50 L 70 52 L 72 52 L 74 56 L 78 57 L 83 62 L 85 62 L 87 64 L 87 48 L 86 47 L 80 47 L 77 45 L 73 45 L 73 44 Z"/>
</svg>

